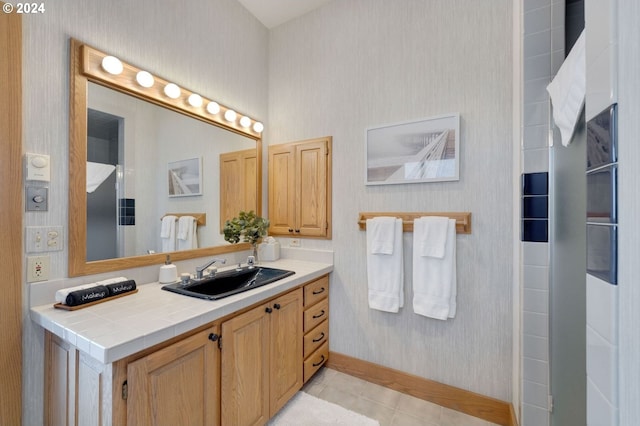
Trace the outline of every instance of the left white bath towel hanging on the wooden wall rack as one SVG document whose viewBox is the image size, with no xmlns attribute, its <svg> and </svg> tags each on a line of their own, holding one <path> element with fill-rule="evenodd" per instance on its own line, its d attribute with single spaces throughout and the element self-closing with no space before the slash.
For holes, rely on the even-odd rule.
<svg viewBox="0 0 640 426">
<path fill-rule="evenodd" d="M 398 312 L 404 306 L 404 268 L 402 254 L 402 219 L 394 222 L 393 254 L 373 254 L 374 240 L 371 230 L 374 222 L 367 220 L 367 282 L 369 307 L 385 312 Z"/>
</svg>

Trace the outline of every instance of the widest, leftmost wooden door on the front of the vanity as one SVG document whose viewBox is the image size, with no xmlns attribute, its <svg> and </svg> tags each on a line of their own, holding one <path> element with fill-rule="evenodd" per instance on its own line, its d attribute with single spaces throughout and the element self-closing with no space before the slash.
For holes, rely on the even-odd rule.
<svg viewBox="0 0 640 426">
<path fill-rule="evenodd" d="M 218 425 L 217 326 L 128 366 L 127 424 Z"/>
</svg>

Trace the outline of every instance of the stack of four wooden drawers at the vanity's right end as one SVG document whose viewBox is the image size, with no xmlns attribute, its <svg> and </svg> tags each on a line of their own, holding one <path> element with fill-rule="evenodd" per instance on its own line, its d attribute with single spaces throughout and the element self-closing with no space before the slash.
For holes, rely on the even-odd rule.
<svg viewBox="0 0 640 426">
<path fill-rule="evenodd" d="M 306 383 L 329 358 L 329 276 L 304 286 L 303 369 Z"/>
</svg>

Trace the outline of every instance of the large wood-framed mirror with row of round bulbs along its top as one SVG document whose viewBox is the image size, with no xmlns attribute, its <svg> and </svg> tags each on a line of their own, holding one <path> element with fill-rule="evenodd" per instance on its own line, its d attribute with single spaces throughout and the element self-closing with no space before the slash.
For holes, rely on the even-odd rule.
<svg viewBox="0 0 640 426">
<path fill-rule="evenodd" d="M 261 212 L 262 124 L 105 57 L 71 40 L 69 276 L 246 250 L 221 228 Z M 167 215 L 197 218 L 199 248 L 164 244 Z"/>
</svg>

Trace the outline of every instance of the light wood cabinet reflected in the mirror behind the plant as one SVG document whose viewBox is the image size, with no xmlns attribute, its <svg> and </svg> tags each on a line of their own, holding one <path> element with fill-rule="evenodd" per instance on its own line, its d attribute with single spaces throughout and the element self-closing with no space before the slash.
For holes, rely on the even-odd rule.
<svg viewBox="0 0 640 426">
<path fill-rule="evenodd" d="M 257 166 L 255 149 L 220 154 L 220 229 L 241 210 L 257 212 Z"/>
</svg>

